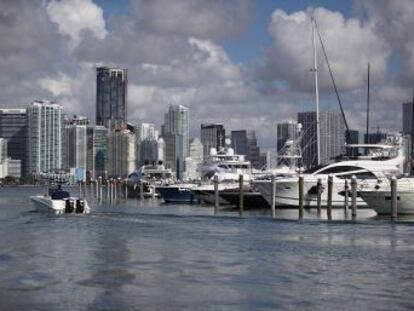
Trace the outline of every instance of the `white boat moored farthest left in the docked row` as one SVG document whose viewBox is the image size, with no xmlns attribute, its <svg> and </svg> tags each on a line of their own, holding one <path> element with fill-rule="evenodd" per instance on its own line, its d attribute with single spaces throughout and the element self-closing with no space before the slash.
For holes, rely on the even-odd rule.
<svg viewBox="0 0 414 311">
<path fill-rule="evenodd" d="M 155 190 L 158 186 L 173 182 L 173 173 L 163 164 L 143 165 L 140 169 L 129 174 L 125 182 L 129 198 L 140 197 L 141 188 L 144 197 L 154 197 L 158 196 Z"/>
</svg>

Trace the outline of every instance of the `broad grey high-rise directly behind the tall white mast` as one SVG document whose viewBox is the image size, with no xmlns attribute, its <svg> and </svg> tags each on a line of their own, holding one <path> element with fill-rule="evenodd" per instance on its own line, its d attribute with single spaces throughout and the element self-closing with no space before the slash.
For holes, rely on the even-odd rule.
<svg viewBox="0 0 414 311">
<path fill-rule="evenodd" d="M 302 162 L 305 167 L 317 165 L 316 113 L 299 112 L 298 123 L 302 124 L 301 139 Z M 345 146 L 345 123 L 339 112 L 319 113 L 320 163 L 343 154 Z"/>
</svg>

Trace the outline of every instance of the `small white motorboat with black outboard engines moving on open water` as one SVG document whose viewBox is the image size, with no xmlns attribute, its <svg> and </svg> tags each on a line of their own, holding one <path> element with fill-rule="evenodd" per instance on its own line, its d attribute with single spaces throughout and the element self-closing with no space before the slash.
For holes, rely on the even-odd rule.
<svg viewBox="0 0 414 311">
<path fill-rule="evenodd" d="M 35 209 L 39 212 L 49 212 L 54 214 L 88 214 L 90 207 L 85 199 L 71 197 L 66 191 L 63 195 L 56 195 L 53 191 L 48 191 L 44 195 L 31 196 Z"/>
</svg>

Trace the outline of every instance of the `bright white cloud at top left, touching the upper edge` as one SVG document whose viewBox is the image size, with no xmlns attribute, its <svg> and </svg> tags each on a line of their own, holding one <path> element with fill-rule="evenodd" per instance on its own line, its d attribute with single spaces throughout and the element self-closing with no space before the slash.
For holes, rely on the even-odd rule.
<svg viewBox="0 0 414 311">
<path fill-rule="evenodd" d="M 76 47 L 82 32 L 89 31 L 98 39 L 105 38 L 103 10 L 92 0 L 52 0 L 46 4 L 46 11 L 59 32 L 70 38 L 70 47 Z"/>
</svg>

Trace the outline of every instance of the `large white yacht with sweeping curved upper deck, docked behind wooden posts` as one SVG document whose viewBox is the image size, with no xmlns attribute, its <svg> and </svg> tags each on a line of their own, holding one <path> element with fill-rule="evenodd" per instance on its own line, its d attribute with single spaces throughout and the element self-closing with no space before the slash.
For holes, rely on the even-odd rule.
<svg viewBox="0 0 414 311">
<path fill-rule="evenodd" d="M 328 176 L 333 177 L 333 207 L 343 207 L 345 198 L 345 179 L 356 176 L 364 180 L 366 185 L 375 184 L 379 178 L 401 175 L 404 172 L 405 144 L 401 137 L 394 137 L 384 144 L 347 145 L 348 155 L 336 159 L 335 162 L 315 167 L 303 173 L 305 206 L 317 205 L 317 181 L 322 181 L 322 206 L 327 205 Z M 257 180 L 254 186 L 266 201 L 271 204 L 272 183 L 269 180 Z M 298 206 L 298 177 L 276 179 L 276 205 Z M 367 204 L 358 197 L 358 206 Z"/>
</svg>

